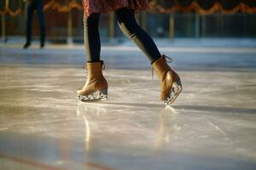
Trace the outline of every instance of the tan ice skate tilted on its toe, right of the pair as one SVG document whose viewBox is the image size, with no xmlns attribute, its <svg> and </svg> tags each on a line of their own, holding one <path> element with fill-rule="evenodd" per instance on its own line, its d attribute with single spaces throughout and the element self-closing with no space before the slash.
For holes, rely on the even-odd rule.
<svg viewBox="0 0 256 170">
<path fill-rule="evenodd" d="M 160 79 L 160 99 L 164 100 L 166 105 L 172 105 L 178 94 L 182 92 L 183 87 L 177 73 L 167 65 L 169 61 L 166 59 L 171 58 L 162 55 L 160 59 L 153 63 L 153 69 Z"/>
</svg>

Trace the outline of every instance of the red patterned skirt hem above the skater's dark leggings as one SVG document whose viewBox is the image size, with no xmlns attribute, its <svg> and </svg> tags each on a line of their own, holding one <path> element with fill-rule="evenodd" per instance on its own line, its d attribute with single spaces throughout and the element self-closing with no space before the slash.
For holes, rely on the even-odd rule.
<svg viewBox="0 0 256 170">
<path fill-rule="evenodd" d="M 148 0 L 83 0 L 84 14 L 110 13 L 119 8 L 131 8 L 139 12 L 148 8 Z"/>
</svg>

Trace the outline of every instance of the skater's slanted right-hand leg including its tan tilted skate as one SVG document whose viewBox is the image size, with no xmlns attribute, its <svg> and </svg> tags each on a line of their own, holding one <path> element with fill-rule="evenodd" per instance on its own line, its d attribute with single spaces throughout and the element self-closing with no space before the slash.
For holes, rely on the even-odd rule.
<svg viewBox="0 0 256 170">
<path fill-rule="evenodd" d="M 121 30 L 136 42 L 138 48 L 150 59 L 154 71 L 160 79 L 160 99 L 164 100 L 166 105 L 172 105 L 183 89 L 177 73 L 167 65 L 166 56 L 161 56 L 152 38 L 137 25 L 133 10 L 121 8 L 115 13 Z"/>
</svg>

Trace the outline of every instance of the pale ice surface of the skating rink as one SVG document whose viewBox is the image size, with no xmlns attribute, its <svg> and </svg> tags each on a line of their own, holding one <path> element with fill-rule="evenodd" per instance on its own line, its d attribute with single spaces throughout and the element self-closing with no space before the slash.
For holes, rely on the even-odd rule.
<svg viewBox="0 0 256 170">
<path fill-rule="evenodd" d="M 102 47 L 108 101 L 80 103 L 83 47 L 1 47 L 0 168 L 256 169 L 255 48 L 161 51 L 183 81 L 172 108 L 136 48 Z"/>
</svg>

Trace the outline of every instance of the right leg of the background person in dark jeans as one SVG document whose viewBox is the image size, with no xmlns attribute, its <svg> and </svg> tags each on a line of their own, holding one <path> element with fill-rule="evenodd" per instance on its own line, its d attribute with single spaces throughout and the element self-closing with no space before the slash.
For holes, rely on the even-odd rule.
<svg viewBox="0 0 256 170">
<path fill-rule="evenodd" d="M 38 12 L 38 21 L 40 26 L 40 45 L 41 48 L 44 48 L 44 39 L 45 39 L 45 22 L 44 22 L 44 0 L 38 1 L 37 12 Z"/>
</svg>

